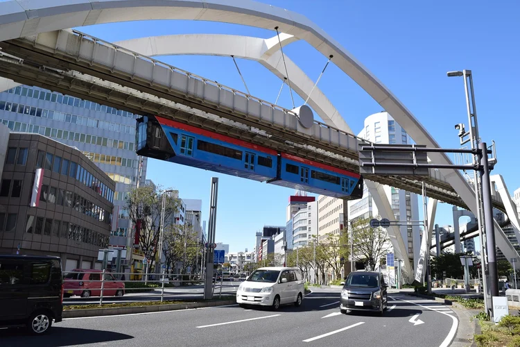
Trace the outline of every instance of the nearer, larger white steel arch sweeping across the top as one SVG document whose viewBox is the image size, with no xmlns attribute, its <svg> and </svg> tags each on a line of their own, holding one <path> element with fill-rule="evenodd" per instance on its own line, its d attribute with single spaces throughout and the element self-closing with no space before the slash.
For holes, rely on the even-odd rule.
<svg viewBox="0 0 520 347">
<path fill-rule="evenodd" d="M 379 103 L 419 144 L 439 145 L 395 95 L 336 40 L 306 17 L 264 3 L 241 0 L 10 0 L 0 3 L 0 41 L 77 26 L 150 19 L 191 19 L 242 24 L 274 30 L 305 40 L 335 64 Z M 431 153 L 431 160 L 451 164 L 444 153 Z M 469 209 L 476 213 L 475 195 L 459 171 L 440 169 Z M 497 223 L 495 223 L 497 225 Z M 510 258 L 518 254 L 500 228 L 497 246 Z"/>
</svg>

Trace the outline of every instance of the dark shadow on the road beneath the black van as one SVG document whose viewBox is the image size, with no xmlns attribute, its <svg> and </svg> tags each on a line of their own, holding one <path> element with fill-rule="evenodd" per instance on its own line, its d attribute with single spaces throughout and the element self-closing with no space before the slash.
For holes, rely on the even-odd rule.
<svg viewBox="0 0 520 347">
<path fill-rule="evenodd" d="M 61 347 L 83 344 L 101 344 L 111 341 L 133 339 L 133 336 L 104 330 L 62 328 L 55 326 L 42 336 L 27 335 L 24 329 L 0 330 L 2 347 Z"/>
</svg>

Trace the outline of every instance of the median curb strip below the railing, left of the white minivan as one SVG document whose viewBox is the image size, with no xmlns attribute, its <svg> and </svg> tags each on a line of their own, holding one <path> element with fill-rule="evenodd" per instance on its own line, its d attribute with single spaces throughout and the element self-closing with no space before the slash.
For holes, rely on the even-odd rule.
<svg viewBox="0 0 520 347">
<path fill-rule="evenodd" d="M 89 308 L 80 310 L 64 310 L 63 318 L 82 318 L 94 316 L 114 316 L 119 314 L 135 314 L 145 312 L 163 312 L 175 310 L 188 310 L 200 307 L 214 307 L 220 305 L 233 305 L 234 300 L 209 301 L 205 303 L 179 303 L 168 305 L 150 305 L 150 306 L 132 306 L 132 307 L 107 307 L 107 308 Z"/>
</svg>

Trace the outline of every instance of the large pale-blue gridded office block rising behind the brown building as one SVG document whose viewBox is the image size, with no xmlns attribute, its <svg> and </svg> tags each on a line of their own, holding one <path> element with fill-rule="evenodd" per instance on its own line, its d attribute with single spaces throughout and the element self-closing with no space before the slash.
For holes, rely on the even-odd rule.
<svg viewBox="0 0 520 347">
<path fill-rule="evenodd" d="M 144 184 L 148 159 L 135 153 L 137 115 L 39 87 L 21 85 L 0 92 L 0 119 L 11 130 L 50 137 L 76 147 L 114 182 L 110 246 L 130 247 L 133 226 L 125 211 L 132 187 Z M 125 262 L 128 264 L 128 260 Z"/>
</svg>

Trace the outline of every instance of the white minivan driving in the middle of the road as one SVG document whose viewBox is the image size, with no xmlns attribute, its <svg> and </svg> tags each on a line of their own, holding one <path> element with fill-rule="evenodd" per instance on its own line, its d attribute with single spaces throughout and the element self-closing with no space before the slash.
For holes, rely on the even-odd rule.
<svg viewBox="0 0 520 347">
<path fill-rule="evenodd" d="M 294 303 L 302 305 L 304 281 L 300 269 L 292 267 L 262 267 L 255 270 L 236 291 L 236 303 L 245 305 L 271 306 L 278 310 L 280 305 Z"/>
</svg>

